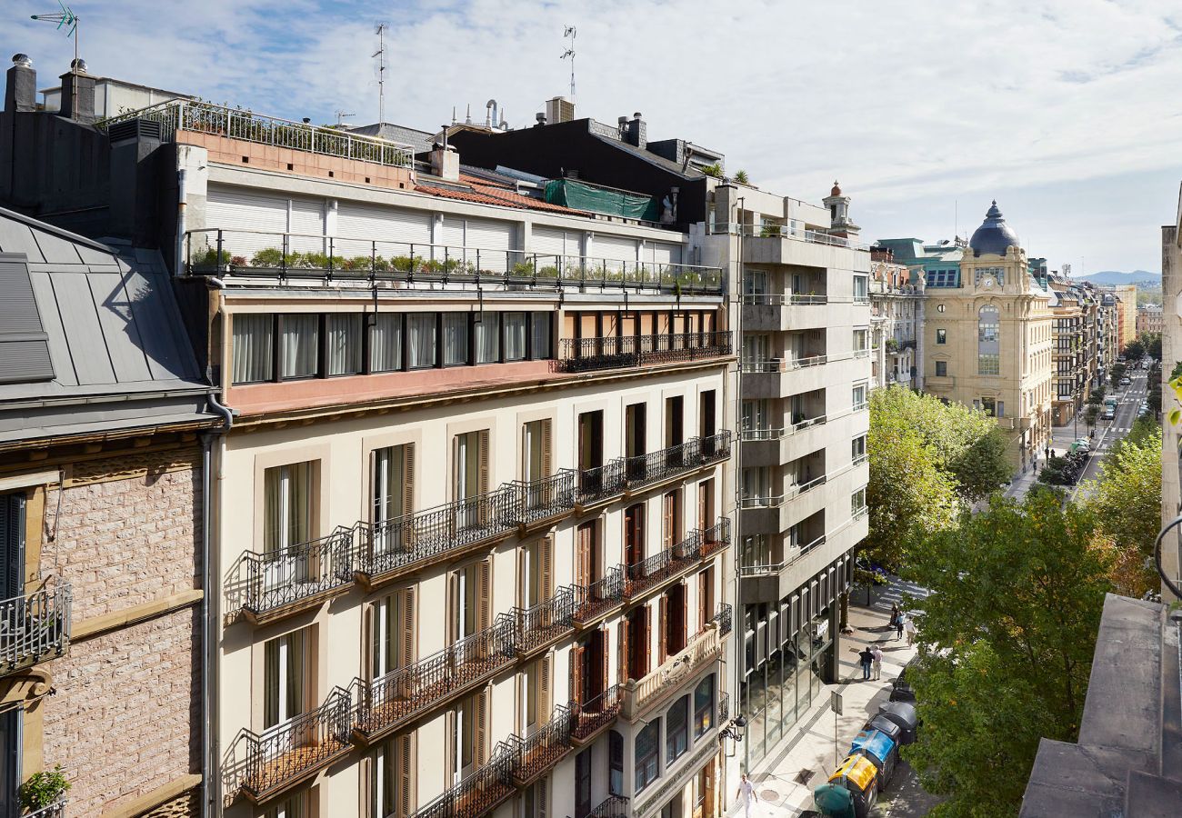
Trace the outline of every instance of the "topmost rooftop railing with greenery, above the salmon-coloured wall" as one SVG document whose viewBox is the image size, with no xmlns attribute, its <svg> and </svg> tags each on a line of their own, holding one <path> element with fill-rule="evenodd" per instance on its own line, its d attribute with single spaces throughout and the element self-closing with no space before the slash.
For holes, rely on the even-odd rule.
<svg viewBox="0 0 1182 818">
<path fill-rule="evenodd" d="M 111 125 L 132 119 L 158 122 L 164 142 L 175 141 L 177 131 L 191 131 L 395 168 L 413 168 L 415 162 L 414 149 L 398 142 L 193 99 L 170 99 L 119 113 L 96 122 L 95 128 L 110 131 Z"/>
</svg>

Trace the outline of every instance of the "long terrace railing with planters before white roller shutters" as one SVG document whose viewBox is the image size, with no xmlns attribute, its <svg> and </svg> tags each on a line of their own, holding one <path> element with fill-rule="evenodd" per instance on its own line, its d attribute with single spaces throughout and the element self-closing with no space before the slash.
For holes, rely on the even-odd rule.
<svg viewBox="0 0 1182 818">
<path fill-rule="evenodd" d="M 219 227 L 188 231 L 184 261 L 190 275 L 219 278 L 722 294 L 719 267 Z"/>
</svg>

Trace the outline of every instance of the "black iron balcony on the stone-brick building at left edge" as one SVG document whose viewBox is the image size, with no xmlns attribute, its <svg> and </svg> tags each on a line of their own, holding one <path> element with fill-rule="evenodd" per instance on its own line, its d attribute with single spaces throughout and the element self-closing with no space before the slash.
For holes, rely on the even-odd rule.
<svg viewBox="0 0 1182 818">
<path fill-rule="evenodd" d="M 0 674 L 64 656 L 70 645 L 70 583 L 0 602 Z"/>
</svg>

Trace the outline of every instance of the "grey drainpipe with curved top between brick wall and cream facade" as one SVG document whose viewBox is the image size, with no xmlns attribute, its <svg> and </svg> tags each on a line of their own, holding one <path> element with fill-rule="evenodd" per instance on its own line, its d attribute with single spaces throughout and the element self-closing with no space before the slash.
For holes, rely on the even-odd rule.
<svg viewBox="0 0 1182 818">
<path fill-rule="evenodd" d="M 183 173 L 183 171 L 182 171 Z M 210 638 L 213 634 L 213 622 L 210 621 L 210 604 L 209 595 L 214 586 L 213 577 L 213 548 L 210 547 L 209 526 L 213 518 L 212 513 L 212 498 L 213 498 L 213 447 L 214 441 L 229 431 L 230 427 L 234 426 L 234 410 L 229 407 L 222 404 L 217 397 L 210 392 L 206 396 L 209 408 L 213 409 L 222 418 L 222 428 L 208 431 L 202 435 L 202 453 L 201 453 L 201 589 L 203 593 L 201 595 L 201 648 L 203 651 L 203 661 L 201 663 L 201 817 L 210 818 L 215 814 L 213 810 L 213 793 L 214 790 L 210 786 L 210 775 L 215 767 L 213 760 L 213 741 L 212 732 L 213 727 L 213 706 L 214 706 L 214 689 L 213 689 L 213 666 L 217 658 L 217 650 L 213 644 Z M 221 457 L 217 460 L 219 469 L 221 468 Z"/>
</svg>

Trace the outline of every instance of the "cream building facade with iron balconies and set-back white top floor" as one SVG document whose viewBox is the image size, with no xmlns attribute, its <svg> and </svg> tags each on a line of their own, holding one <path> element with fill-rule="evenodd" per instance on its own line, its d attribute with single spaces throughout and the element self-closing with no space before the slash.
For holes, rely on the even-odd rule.
<svg viewBox="0 0 1182 818">
<path fill-rule="evenodd" d="M 736 712 L 720 271 L 670 264 L 691 247 L 668 229 L 197 147 L 181 163 L 189 227 L 222 231 L 190 258 L 220 241 L 249 267 L 290 232 L 305 252 L 420 259 L 417 280 L 210 281 L 236 411 L 214 453 L 223 814 L 720 814 Z M 599 280 L 521 272 L 554 242 L 558 268 Z M 652 258 L 664 285 L 625 296 Z"/>
</svg>

